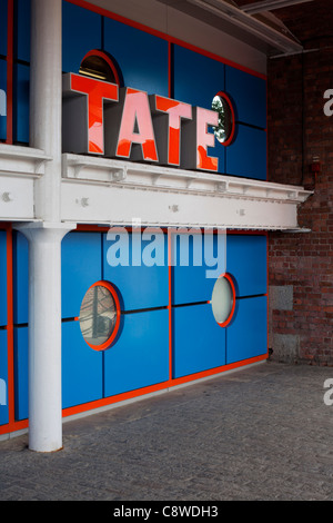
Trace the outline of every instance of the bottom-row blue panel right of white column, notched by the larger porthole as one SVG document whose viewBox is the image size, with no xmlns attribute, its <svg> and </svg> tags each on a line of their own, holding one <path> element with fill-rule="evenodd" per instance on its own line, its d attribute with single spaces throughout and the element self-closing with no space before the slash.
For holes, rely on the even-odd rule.
<svg viewBox="0 0 333 523">
<path fill-rule="evenodd" d="M 84 342 L 79 322 L 62 324 L 62 407 L 100 399 L 103 354 Z"/>
</svg>

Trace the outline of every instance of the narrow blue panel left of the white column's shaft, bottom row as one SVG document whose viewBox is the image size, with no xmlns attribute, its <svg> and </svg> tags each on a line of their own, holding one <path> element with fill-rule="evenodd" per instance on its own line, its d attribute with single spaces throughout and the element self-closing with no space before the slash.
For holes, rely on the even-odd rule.
<svg viewBox="0 0 333 523">
<path fill-rule="evenodd" d="M 14 328 L 14 395 L 16 420 L 29 416 L 28 401 L 28 327 Z"/>
</svg>

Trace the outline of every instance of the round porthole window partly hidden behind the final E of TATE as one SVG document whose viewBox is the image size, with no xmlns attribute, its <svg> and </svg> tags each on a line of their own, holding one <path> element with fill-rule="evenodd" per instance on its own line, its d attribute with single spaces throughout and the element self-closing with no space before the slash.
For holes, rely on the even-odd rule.
<svg viewBox="0 0 333 523">
<path fill-rule="evenodd" d="M 229 146 L 233 139 L 235 121 L 234 110 L 225 92 L 218 92 L 212 101 L 212 109 L 219 114 L 219 126 L 213 127 L 216 139 L 223 146 Z"/>
</svg>

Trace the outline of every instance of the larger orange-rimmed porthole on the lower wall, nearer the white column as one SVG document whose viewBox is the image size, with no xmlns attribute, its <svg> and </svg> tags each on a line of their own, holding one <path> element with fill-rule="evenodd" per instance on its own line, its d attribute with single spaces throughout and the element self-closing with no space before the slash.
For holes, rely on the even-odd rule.
<svg viewBox="0 0 333 523">
<path fill-rule="evenodd" d="M 84 295 L 80 309 L 80 328 L 85 343 L 94 351 L 109 348 L 120 325 L 120 303 L 108 282 L 98 282 Z"/>
</svg>

